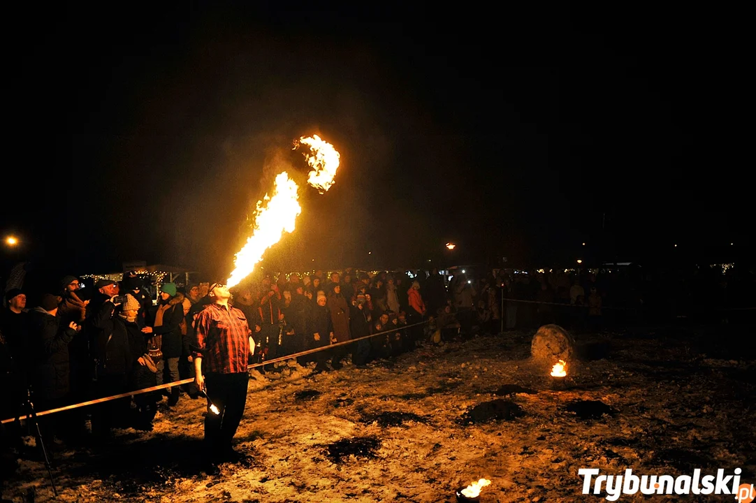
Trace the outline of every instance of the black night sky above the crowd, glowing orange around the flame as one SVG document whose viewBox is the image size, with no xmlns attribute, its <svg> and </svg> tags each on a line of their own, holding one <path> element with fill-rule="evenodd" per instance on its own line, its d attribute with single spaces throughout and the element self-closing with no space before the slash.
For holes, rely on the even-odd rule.
<svg viewBox="0 0 756 503">
<path fill-rule="evenodd" d="M 9 17 L 0 231 L 17 253 L 225 275 L 266 159 L 304 172 L 287 147 L 312 133 L 342 166 L 302 191 L 271 266 L 744 246 L 747 65 L 717 13 L 289 8 Z"/>
</svg>

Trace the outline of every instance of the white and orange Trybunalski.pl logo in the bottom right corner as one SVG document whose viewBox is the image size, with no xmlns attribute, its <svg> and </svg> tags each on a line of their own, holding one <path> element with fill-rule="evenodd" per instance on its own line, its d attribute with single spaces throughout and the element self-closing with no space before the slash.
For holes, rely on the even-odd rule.
<svg viewBox="0 0 756 503">
<path fill-rule="evenodd" d="M 581 468 L 578 475 L 583 479 L 583 494 L 590 494 L 593 489 L 594 495 L 606 492 L 606 499 L 617 501 L 621 495 L 632 495 L 640 491 L 641 494 L 677 494 L 677 495 L 710 495 L 729 494 L 735 495 L 739 503 L 751 503 L 756 498 L 756 490 L 753 484 L 740 483 L 742 470 L 736 468 L 733 475 L 725 474 L 725 470 L 717 470 L 716 475 L 701 476 L 701 470 L 693 470 L 692 477 L 680 475 L 641 475 L 633 474 L 633 470 L 624 470 L 624 475 L 599 475 L 597 468 Z"/>
</svg>

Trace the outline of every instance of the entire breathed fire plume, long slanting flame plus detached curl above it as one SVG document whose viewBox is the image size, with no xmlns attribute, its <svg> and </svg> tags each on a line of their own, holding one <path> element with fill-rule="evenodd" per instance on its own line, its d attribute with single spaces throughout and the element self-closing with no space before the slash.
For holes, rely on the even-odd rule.
<svg viewBox="0 0 756 503">
<path fill-rule="evenodd" d="M 318 135 L 299 138 L 299 144 L 310 147 L 311 153 L 305 153 L 308 165 L 313 168 L 309 173 L 308 183 L 324 194 L 331 185 L 336 169 L 339 168 L 340 154 L 333 145 L 322 140 Z M 255 265 L 262 260 L 265 250 L 272 247 L 284 232 L 294 231 L 296 217 L 302 213 L 299 206 L 299 186 L 289 178 L 287 172 L 276 175 L 273 195 L 257 202 L 253 233 L 246 244 L 236 254 L 234 271 L 226 281 L 228 287 L 234 287 L 255 270 Z"/>
</svg>

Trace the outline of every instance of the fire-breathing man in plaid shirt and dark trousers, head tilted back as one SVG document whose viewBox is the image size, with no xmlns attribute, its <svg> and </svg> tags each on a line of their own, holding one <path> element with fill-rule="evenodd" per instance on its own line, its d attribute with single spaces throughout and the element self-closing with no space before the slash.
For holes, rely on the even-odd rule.
<svg viewBox="0 0 756 503">
<path fill-rule="evenodd" d="M 208 473 L 218 474 L 219 461 L 236 461 L 231 448 L 239 427 L 249 377 L 246 365 L 255 343 L 246 316 L 228 305 L 231 293 L 223 284 L 210 285 L 209 304 L 197 318 L 194 383 L 207 396 L 205 449 Z M 215 410 L 211 408 L 215 405 Z"/>
</svg>

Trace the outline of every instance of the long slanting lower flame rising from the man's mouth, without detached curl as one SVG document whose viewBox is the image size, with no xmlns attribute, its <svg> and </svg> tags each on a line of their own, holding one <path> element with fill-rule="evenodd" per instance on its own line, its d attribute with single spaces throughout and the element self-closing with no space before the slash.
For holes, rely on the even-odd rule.
<svg viewBox="0 0 756 503">
<path fill-rule="evenodd" d="M 261 201 L 257 201 L 253 234 L 236 255 L 236 269 L 226 282 L 228 287 L 239 284 L 253 272 L 265 250 L 276 244 L 284 232 L 294 231 L 296 217 L 302 213 L 302 206 L 297 202 L 297 190 L 296 183 L 284 171 L 276 175 L 273 196 L 265 194 Z"/>
</svg>

